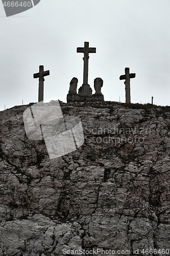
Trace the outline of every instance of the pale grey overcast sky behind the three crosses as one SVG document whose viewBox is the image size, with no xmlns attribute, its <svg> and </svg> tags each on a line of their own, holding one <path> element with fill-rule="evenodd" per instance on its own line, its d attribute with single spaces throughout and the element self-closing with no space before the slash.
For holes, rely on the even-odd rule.
<svg viewBox="0 0 170 256">
<path fill-rule="evenodd" d="M 169 0 L 41 0 L 28 11 L 6 17 L 0 3 L 0 110 L 38 101 L 39 65 L 45 77 L 44 99 L 66 102 L 69 82 L 83 82 L 83 47 L 89 54 L 88 83 L 104 80 L 105 100 L 125 102 L 124 80 L 129 67 L 131 102 L 170 105 Z"/>
</svg>

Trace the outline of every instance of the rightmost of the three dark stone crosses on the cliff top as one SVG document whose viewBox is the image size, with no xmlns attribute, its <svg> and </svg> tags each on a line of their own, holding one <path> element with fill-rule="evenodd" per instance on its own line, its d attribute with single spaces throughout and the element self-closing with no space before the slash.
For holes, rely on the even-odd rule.
<svg viewBox="0 0 170 256">
<path fill-rule="evenodd" d="M 129 74 L 129 68 L 125 68 L 125 75 L 119 77 L 120 80 L 125 79 L 126 103 L 131 103 L 130 78 L 135 78 L 136 74 Z"/>
</svg>

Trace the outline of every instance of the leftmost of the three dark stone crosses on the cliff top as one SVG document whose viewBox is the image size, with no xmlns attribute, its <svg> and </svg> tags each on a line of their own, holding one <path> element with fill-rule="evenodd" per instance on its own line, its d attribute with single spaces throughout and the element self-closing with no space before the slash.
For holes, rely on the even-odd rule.
<svg viewBox="0 0 170 256">
<path fill-rule="evenodd" d="M 39 66 L 39 73 L 33 75 L 34 78 L 39 78 L 38 102 L 44 99 L 44 76 L 50 75 L 50 70 L 44 71 L 44 66 Z"/>
</svg>

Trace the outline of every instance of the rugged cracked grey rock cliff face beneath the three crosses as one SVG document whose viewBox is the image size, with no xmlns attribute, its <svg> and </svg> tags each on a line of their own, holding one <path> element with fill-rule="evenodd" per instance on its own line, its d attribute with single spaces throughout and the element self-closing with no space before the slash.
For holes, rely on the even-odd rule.
<svg viewBox="0 0 170 256">
<path fill-rule="evenodd" d="M 85 142 L 50 160 L 26 136 L 27 108 L 0 115 L 0 255 L 168 255 L 169 110 L 63 104 Z"/>
</svg>

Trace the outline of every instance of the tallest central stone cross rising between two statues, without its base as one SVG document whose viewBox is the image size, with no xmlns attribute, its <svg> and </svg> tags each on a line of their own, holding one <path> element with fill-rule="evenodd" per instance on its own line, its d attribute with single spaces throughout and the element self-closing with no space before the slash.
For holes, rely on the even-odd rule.
<svg viewBox="0 0 170 256">
<path fill-rule="evenodd" d="M 84 53 L 83 84 L 88 84 L 88 59 L 89 53 L 96 53 L 96 48 L 90 47 L 89 42 L 84 42 L 84 47 L 78 47 L 77 52 Z"/>
</svg>

